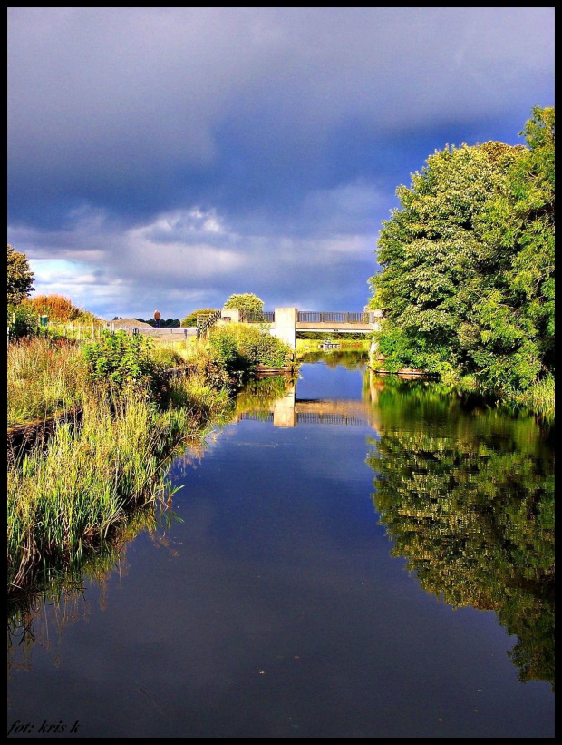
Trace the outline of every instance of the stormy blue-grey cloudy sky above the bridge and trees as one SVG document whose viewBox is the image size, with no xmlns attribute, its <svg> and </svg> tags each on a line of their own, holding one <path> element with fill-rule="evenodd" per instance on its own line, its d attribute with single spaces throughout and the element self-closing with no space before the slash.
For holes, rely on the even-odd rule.
<svg viewBox="0 0 562 745">
<path fill-rule="evenodd" d="M 446 145 L 554 105 L 554 8 L 8 8 L 8 243 L 104 319 L 357 311 Z"/>
</svg>

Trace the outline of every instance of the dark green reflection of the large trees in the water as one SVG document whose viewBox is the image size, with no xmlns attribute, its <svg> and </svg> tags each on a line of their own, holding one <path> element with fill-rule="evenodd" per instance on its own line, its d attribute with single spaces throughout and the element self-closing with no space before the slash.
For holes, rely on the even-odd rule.
<svg viewBox="0 0 562 745">
<path fill-rule="evenodd" d="M 373 504 L 428 593 L 497 613 L 520 681 L 554 690 L 554 456 L 534 417 L 427 382 L 371 381 Z"/>
</svg>

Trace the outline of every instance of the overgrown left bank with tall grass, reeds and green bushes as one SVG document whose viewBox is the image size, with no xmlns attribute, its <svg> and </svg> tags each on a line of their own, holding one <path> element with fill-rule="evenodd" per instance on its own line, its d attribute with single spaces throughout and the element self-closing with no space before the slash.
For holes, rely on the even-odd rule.
<svg viewBox="0 0 562 745">
<path fill-rule="evenodd" d="M 136 510 L 161 502 L 173 456 L 229 421 L 233 391 L 257 364 L 285 358 L 270 339 L 218 329 L 171 378 L 164 373 L 180 358 L 123 332 L 82 345 L 15 344 L 9 421 L 75 406 L 82 416 L 55 424 L 46 444 L 8 467 L 8 594 L 75 572 Z"/>
</svg>

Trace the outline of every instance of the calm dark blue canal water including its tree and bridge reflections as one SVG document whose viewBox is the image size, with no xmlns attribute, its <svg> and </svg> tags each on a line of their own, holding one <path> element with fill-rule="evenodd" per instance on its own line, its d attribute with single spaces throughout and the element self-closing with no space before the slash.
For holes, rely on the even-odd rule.
<svg viewBox="0 0 562 745">
<path fill-rule="evenodd" d="M 552 434 L 332 359 L 250 387 L 172 466 L 183 522 L 12 638 L 10 736 L 554 736 Z"/>
</svg>

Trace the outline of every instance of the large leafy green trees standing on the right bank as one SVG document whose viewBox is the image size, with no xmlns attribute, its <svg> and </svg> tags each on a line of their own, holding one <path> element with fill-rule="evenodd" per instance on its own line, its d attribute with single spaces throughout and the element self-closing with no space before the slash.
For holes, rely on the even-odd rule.
<svg viewBox="0 0 562 745">
<path fill-rule="evenodd" d="M 424 368 L 498 393 L 554 372 L 554 109 L 527 147 L 431 155 L 383 223 L 370 308 L 384 367 Z"/>
</svg>

